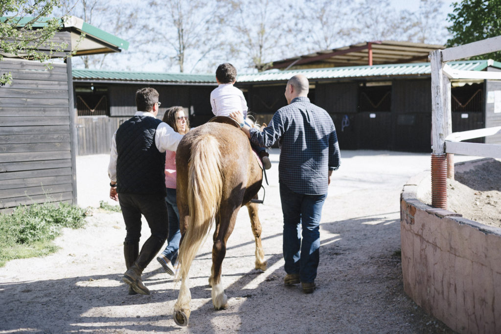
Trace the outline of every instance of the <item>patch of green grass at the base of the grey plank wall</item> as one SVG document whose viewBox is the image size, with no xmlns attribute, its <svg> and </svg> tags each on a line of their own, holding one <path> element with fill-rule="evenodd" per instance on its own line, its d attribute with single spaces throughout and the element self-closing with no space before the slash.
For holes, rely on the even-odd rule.
<svg viewBox="0 0 501 334">
<path fill-rule="evenodd" d="M 43 256 L 55 252 L 54 240 L 64 227 L 85 224 L 85 210 L 59 203 L 18 206 L 12 214 L 0 214 L 0 266 L 9 260 Z"/>
</svg>

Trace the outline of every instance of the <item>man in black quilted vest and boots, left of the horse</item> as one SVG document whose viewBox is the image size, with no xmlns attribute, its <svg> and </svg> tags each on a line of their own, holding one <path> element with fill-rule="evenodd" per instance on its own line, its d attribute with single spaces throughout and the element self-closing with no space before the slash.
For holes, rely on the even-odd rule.
<svg viewBox="0 0 501 334">
<path fill-rule="evenodd" d="M 110 164 L 110 198 L 122 208 L 127 234 L 122 280 L 129 294 L 150 294 L 141 281 L 144 268 L 162 249 L 169 232 L 165 204 L 165 150 L 175 151 L 182 135 L 156 118 L 158 92 L 143 88 L 136 92 L 136 114 L 113 134 Z M 139 251 L 141 215 L 151 231 Z"/>
</svg>

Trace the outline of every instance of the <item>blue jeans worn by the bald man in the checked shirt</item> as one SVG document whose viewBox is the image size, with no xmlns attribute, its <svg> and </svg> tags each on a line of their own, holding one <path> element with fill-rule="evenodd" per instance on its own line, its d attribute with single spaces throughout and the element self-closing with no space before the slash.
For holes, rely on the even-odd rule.
<svg viewBox="0 0 501 334">
<path fill-rule="evenodd" d="M 280 183 L 280 199 L 284 214 L 285 271 L 288 274 L 299 273 L 301 282 L 313 282 L 317 277 L 320 258 L 320 218 L 326 198 L 327 194 L 299 194 Z"/>
</svg>

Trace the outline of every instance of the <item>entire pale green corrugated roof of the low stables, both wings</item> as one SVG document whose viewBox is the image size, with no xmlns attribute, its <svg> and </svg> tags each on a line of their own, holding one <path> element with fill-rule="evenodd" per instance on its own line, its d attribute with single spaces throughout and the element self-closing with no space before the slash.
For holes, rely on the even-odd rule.
<svg viewBox="0 0 501 334">
<path fill-rule="evenodd" d="M 456 70 L 482 71 L 491 66 L 501 69 L 501 63 L 492 60 L 449 62 Z M 271 70 L 256 74 L 238 75 L 238 83 L 284 82 L 296 74 L 303 74 L 310 80 L 328 80 L 343 78 L 381 78 L 395 76 L 430 75 L 430 63 L 392 64 L 374 66 L 350 66 L 322 69 L 302 69 L 279 71 Z M 102 70 L 73 70 L 75 81 L 109 82 L 157 82 L 157 83 L 204 83 L 216 84 L 214 74 L 154 73 Z"/>
</svg>

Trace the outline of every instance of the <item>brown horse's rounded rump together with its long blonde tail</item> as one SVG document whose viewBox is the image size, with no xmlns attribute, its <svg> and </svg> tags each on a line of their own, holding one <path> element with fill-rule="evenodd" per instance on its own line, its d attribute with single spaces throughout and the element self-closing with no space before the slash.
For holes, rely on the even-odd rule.
<svg viewBox="0 0 501 334">
<path fill-rule="evenodd" d="M 261 187 L 257 163 L 246 136 L 228 124 L 206 123 L 188 132 L 176 153 L 177 206 L 187 214 L 181 222 L 179 275 L 187 275 L 221 201 L 241 206 Z M 249 172 L 258 176 L 249 177 Z M 250 184 L 249 184 L 250 182 Z M 250 190 L 250 191 L 247 191 Z"/>
</svg>

